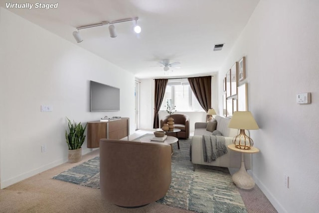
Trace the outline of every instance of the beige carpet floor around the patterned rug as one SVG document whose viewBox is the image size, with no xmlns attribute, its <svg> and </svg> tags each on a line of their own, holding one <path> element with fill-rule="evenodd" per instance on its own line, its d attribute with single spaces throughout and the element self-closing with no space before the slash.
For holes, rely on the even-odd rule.
<svg viewBox="0 0 319 213">
<path fill-rule="evenodd" d="M 96 150 L 83 156 L 82 161 L 79 163 L 62 164 L 0 190 L 0 213 L 191 212 L 156 202 L 139 209 L 124 209 L 102 200 L 100 190 L 98 189 L 52 179 L 53 176 L 98 155 L 99 150 Z M 255 187 L 252 191 L 244 191 L 243 193 L 246 193 L 244 196 L 242 194 L 242 196 L 249 213 L 276 213 L 276 210 L 258 187 Z M 247 202 L 247 199 L 251 202 Z"/>
</svg>

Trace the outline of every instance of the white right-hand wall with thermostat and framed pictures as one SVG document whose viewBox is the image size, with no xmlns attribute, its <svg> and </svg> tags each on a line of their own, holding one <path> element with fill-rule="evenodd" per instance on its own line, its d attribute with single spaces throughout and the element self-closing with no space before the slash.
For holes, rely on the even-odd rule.
<svg viewBox="0 0 319 213">
<path fill-rule="evenodd" d="M 261 0 L 221 69 L 246 56 L 252 175 L 279 213 L 319 209 L 319 1 Z M 222 108 L 222 85 L 219 108 Z M 298 105 L 298 93 L 312 103 Z M 220 110 L 219 110 L 220 111 Z M 284 175 L 289 176 L 289 188 Z"/>
</svg>

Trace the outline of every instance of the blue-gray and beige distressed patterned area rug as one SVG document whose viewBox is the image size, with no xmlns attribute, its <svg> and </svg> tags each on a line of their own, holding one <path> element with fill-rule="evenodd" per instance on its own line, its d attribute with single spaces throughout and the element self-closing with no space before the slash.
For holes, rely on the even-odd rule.
<svg viewBox="0 0 319 213">
<path fill-rule="evenodd" d="M 180 139 L 180 149 L 173 144 L 170 188 L 157 202 L 198 213 L 247 213 L 227 168 L 197 166 L 193 172 L 190 141 Z M 53 178 L 99 189 L 99 175 L 99 157 L 95 157 Z"/>
</svg>

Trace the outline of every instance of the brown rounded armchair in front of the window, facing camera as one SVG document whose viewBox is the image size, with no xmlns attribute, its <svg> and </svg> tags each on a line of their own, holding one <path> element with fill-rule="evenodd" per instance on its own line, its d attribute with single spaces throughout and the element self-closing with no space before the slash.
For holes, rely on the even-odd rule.
<svg viewBox="0 0 319 213">
<path fill-rule="evenodd" d="M 186 114 L 171 114 L 166 115 L 160 120 L 160 128 L 163 127 L 164 123 L 167 123 L 168 117 L 174 118 L 174 126 L 177 129 L 180 129 L 180 132 L 173 133 L 171 136 L 176 136 L 178 138 L 185 138 L 187 139 L 189 137 L 189 117 Z M 170 135 L 170 133 L 167 133 L 167 135 Z"/>
</svg>

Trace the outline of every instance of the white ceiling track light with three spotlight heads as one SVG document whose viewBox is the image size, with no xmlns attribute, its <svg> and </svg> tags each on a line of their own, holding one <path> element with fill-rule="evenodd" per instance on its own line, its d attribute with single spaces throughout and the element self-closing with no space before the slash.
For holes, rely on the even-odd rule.
<svg viewBox="0 0 319 213">
<path fill-rule="evenodd" d="M 112 38 L 115 38 L 117 36 L 116 30 L 115 30 L 115 23 L 120 23 L 120 22 L 126 22 L 126 21 L 133 21 L 135 20 L 135 26 L 134 26 L 134 31 L 136 33 L 140 33 L 141 32 L 141 27 L 139 25 L 137 25 L 137 21 L 138 21 L 139 17 L 135 17 L 135 18 L 124 18 L 124 19 L 119 19 L 119 20 L 113 20 L 113 21 L 102 21 L 101 23 L 96 23 L 96 24 L 90 24 L 90 25 L 85 25 L 85 26 L 79 26 L 76 27 L 76 29 L 78 31 L 74 31 L 73 32 L 73 36 L 76 40 L 76 42 L 80 43 L 83 41 L 83 39 L 80 36 L 79 30 L 80 29 L 86 29 L 86 28 L 90 28 L 90 27 L 96 27 L 96 26 L 103 26 L 106 24 L 109 24 L 109 32 L 110 32 L 110 36 Z"/>
</svg>

